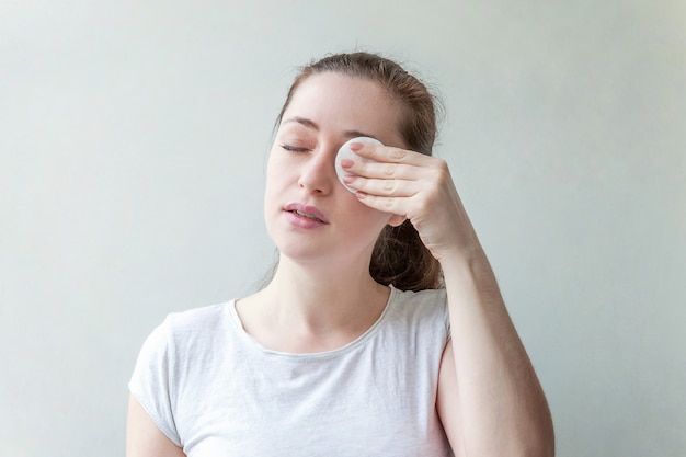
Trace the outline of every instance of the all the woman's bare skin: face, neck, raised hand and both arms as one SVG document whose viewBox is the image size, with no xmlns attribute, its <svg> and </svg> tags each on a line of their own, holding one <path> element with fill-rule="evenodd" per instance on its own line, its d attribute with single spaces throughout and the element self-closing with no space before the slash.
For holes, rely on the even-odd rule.
<svg viewBox="0 0 686 457">
<path fill-rule="evenodd" d="M 546 398 L 448 167 L 407 150 L 396 128 L 400 114 L 385 89 L 367 80 L 321 73 L 298 88 L 267 167 L 265 220 L 279 267 L 265 289 L 238 301 L 243 328 L 264 346 L 294 353 L 358 338 L 390 293 L 368 274 L 376 237 L 408 218 L 445 275 L 451 341 L 436 409 L 456 456 L 552 456 Z M 355 136 L 388 146 L 352 147 L 376 161 L 341 162 L 353 194 L 338 181 L 334 160 Z M 325 224 L 294 224 L 284 209 L 293 202 L 317 207 Z M 132 398 L 127 456 L 183 455 Z"/>
</svg>

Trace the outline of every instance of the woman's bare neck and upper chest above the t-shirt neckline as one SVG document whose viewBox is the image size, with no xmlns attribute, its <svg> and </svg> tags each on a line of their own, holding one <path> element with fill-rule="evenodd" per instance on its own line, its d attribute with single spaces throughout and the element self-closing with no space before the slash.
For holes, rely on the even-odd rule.
<svg viewBox="0 0 686 457">
<path fill-rule="evenodd" d="M 270 285 L 239 300 L 243 329 L 264 346 L 289 353 L 341 347 L 381 316 L 390 289 L 357 269 L 306 265 L 282 255 Z M 366 263 L 368 265 L 368 262 Z"/>
</svg>

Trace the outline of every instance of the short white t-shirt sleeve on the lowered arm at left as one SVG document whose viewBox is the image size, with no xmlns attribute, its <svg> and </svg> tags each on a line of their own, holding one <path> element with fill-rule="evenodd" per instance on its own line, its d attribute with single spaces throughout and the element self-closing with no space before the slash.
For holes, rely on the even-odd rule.
<svg viewBox="0 0 686 457">
<path fill-rule="evenodd" d="M 128 388 L 160 431 L 176 446 L 181 446 L 172 404 L 173 347 L 169 333 L 170 322 L 167 318 L 142 344 Z"/>
</svg>

